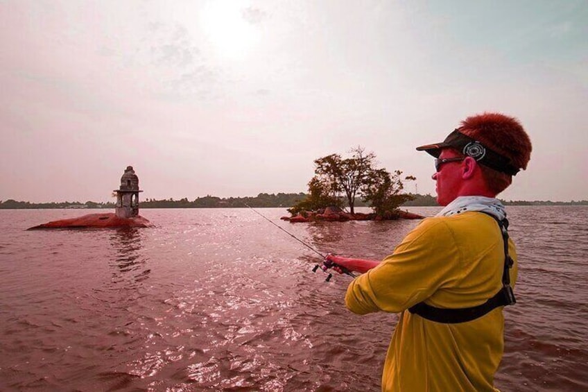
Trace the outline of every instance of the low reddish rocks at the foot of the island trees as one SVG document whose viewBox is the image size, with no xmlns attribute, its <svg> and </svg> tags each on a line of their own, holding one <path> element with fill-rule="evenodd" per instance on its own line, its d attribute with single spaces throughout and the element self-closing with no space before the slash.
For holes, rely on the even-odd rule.
<svg viewBox="0 0 588 392">
<path fill-rule="evenodd" d="M 282 220 L 288 221 L 290 223 L 304 223 L 304 222 L 311 222 L 311 221 L 385 221 L 385 220 L 393 220 L 393 219 L 423 219 L 424 216 L 419 214 L 414 214 L 413 212 L 408 211 L 401 211 L 397 210 L 394 212 L 390 212 L 390 214 L 385 214 L 384 216 L 378 216 L 374 213 L 370 214 L 363 214 L 361 212 L 356 212 L 355 214 L 349 214 L 349 212 L 344 212 L 338 207 L 327 207 L 325 210 L 320 210 L 318 212 L 311 212 L 311 211 L 304 211 L 300 212 L 300 214 L 296 214 L 294 216 L 282 216 Z"/>
</svg>

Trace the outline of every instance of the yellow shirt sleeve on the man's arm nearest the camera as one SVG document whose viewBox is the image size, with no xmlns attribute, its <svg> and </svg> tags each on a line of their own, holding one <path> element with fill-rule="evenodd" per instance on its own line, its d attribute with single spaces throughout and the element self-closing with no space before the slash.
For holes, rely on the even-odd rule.
<svg viewBox="0 0 588 392">
<path fill-rule="evenodd" d="M 402 312 L 459 280 L 461 259 L 447 223 L 424 219 L 392 255 L 349 284 L 345 305 L 356 314 Z"/>
</svg>

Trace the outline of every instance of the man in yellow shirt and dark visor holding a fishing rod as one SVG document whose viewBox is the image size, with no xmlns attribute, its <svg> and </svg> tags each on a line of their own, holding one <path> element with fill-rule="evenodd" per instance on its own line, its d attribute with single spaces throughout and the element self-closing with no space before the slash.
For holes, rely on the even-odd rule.
<svg viewBox="0 0 588 392">
<path fill-rule="evenodd" d="M 400 313 L 383 391 L 496 391 L 517 255 L 495 197 L 526 169 L 530 139 L 516 119 L 484 113 L 417 150 L 437 158 L 441 212 L 381 262 L 328 255 L 325 266 L 363 273 L 347 288 L 352 312 Z"/>
</svg>

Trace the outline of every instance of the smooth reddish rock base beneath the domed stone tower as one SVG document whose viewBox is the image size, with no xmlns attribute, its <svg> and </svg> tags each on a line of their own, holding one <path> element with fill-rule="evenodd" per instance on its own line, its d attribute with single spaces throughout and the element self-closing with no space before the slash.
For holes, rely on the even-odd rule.
<svg viewBox="0 0 588 392">
<path fill-rule="evenodd" d="M 36 225 L 27 230 L 62 229 L 62 228 L 148 228 L 153 226 L 143 216 L 119 218 L 116 214 L 87 214 L 78 218 L 60 219 Z"/>
</svg>

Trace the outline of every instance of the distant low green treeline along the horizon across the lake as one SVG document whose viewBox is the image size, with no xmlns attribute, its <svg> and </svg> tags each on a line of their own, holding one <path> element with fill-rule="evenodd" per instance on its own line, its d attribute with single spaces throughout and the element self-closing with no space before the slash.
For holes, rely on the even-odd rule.
<svg viewBox="0 0 588 392">
<path fill-rule="evenodd" d="M 415 199 L 404 203 L 403 207 L 426 207 L 436 206 L 435 196 L 430 194 L 412 194 Z M 251 207 L 284 207 L 288 208 L 298 201 L 301 201 L 306 194 L 303 192 L 297 194 L 258 194 L 255 197 L 230 197 L 220 198 L 216 196 L 198 197 L 193 201 L 188 198 L 173 200 L 173 198 L 155 200 L 148 198 L 139 203 L 140 208 L 243 208 L 245 204 Z M 502 201 L 505 205 L 588 205 L 587 200 L 582 201 Z M 368 207 L 362 201 L 356 201 L 356 207 Z M 0 201 L 0 210 L 16 209 L 55 209 L 55 208 L 110 208 L 114 209 L 114 202 L 96 203 L 87 201 L 80 203 L 78 201 L 64 201 L 60 203 L 30 203 L 28 201 L 15 201 L 8 199 Z"/>
</svg>

